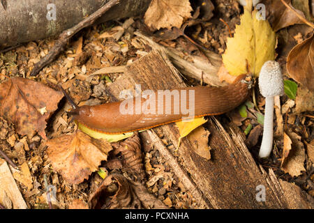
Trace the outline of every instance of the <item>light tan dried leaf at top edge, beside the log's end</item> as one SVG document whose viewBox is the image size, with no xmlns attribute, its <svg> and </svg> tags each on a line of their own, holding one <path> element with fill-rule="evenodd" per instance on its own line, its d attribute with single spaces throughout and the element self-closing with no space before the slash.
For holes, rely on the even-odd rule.
<svg viewBox="0 0 314 223">
<path fill-rule="evenodd" d="M 160 28 L 180 28 L 184 20 L 191 17 L 188 0 L 152 0 L 144 15 L 144 22 L 153 31 Z"/>
</svg>

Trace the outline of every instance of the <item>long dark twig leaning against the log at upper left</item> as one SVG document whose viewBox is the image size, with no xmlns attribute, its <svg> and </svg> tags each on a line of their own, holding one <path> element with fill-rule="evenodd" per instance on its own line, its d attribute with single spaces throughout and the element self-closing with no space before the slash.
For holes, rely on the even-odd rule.
<svg viewBox="0 0 314 223">
<path fill-rule="evenodd" d="M 63 51 L 64 47 L 66 47 L 66 43 L 68 43 L 68 40 L 72 36 L 75 35 L 78 31 L 84 29 L 87 26 L 90 26 L 91 24 L 94 24 L 94 22 L 101 17 L 107 10 L 112 8 L 112 6 L 117 5 L 119 3 L 119 0 L 111 0 L 108 3 L 105 4 L 105 6 L 102 6 L 98 10 L 96 10 L 95 13 L 89 15 L 89 17 L 86 17 L 84 20 L 73 26 L 72 28 L 63 31 L 63 33 L 60 34 L 59 40 L 57 40 L 57 43 L 52 47 L 49 54 L 45 55 L 43 59 L 41 59 L 38 63 L 35 64 L 33 70 L 31 70 L 31 76 L 38 75 L 38 72 L 40 72 L 41 69 L 43 69 L 47 64 L 54 61 L 54 59 L 57 58 L 57 56 L 60 54 L 61 51 Z"/>
</svg>

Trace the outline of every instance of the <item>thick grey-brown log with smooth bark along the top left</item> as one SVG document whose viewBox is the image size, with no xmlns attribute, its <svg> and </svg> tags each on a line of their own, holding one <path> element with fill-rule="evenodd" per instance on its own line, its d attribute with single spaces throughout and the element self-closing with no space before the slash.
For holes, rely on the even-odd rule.
<svg viewBox="0 0 314 223">
<path fill-rule="evenodd" d="M 141 15 L 151 0 L 120 0 L 97 22 L 117 20 Z M 56 36 L 91 15 L 108 0 L 59 0 L 56 20 L 47 20 L 47 5 L 50 0 L 6 0 L 6 9 L 0 4 L 0 48 Z"/>
</svg>

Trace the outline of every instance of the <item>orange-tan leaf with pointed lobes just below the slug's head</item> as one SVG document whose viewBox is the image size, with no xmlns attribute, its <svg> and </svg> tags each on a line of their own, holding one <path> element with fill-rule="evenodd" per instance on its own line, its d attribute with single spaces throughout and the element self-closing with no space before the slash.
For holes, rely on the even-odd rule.
<svg viewBox="0 0 314 223">
<path fill-rule="evenodd" d="M 104 139 L 93 139 L 80 130 L 47 141 L 47 154 L 54 170 L 68 183 L 81 183 L 100 162 L 107 160 L 112 146 Z"/>
</svg>

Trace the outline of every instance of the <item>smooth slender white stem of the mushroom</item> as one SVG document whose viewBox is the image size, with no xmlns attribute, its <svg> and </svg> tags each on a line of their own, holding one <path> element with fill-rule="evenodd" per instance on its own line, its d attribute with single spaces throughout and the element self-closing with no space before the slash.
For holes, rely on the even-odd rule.
<svg viewBox="0 0 314 223">
<path fill-rule="evenodd" d="M 274 96 L 265 98 L 265 115 L 262 145 L 260 146 L 259 157 L 268 157 L 273 146 L 274 126 Z"/>
</svg>

